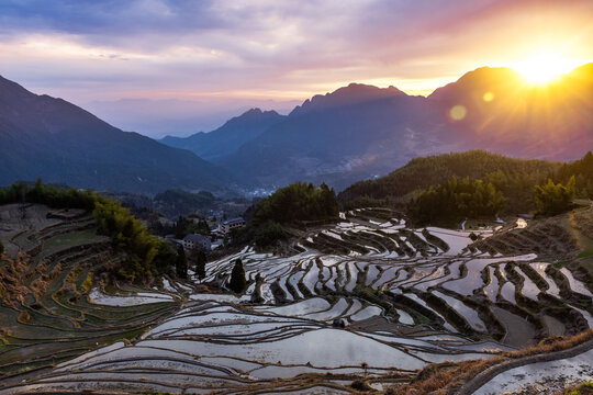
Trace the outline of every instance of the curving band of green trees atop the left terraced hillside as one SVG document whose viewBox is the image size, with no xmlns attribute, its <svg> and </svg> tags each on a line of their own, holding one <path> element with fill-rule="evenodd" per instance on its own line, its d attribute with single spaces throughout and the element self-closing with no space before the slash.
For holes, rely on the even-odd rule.
<svg viewBox="0 0 593 395">
<path fill-rule="evenodd" d="M 147 282 L 156 273 L 168 271 L 176 253 L 170 247 L 150 235 L 130 210 L 116 201 L 92 191 L 15 183 L 0 188 L 0 204 L 37 203 L 54 208 L 82 208 L 92 211 L 98 232 L 109 236 L 113 248 L 123 257 L 108 269 L 112 274 L 131 282 Z"/>
</svg>

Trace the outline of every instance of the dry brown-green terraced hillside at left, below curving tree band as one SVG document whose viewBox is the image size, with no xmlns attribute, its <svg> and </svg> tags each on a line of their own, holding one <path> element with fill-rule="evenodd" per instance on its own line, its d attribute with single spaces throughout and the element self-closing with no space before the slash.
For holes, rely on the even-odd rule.
<svg viewBox="0 0 593 395">
<path fill-rule="evenodd" d="M 0 373 L 11 376 L 43 370 L 119 339 L 134 338 L 178 309 L 172 296 L 120 307 L 94 304 L 85 292 L 91 270 L 120 259 L 94 219 L 48 218 L 45 206 L 0 207 L 2 241 L 12 256 L 0 263 Z M 131 294 L 130 286 L 110 290 Z M 91 293 L 92 296 L 92 293 Z M 115 296 L 112 296 L 115 297 Z M 157 303 L 154 303 L 157 302 Z"/>
</svg>

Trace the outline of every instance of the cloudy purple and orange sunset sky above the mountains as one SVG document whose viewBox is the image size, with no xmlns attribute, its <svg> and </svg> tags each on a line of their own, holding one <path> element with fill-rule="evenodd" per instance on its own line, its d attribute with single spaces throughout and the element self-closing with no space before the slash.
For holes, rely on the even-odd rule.
<svg viewBox="0 0 593 395">
<path fill-rule="evenodd" d="M 538 54 L 593 60 L 593 1 L 0 0 L 0 75 L 152 137 L 349 82 L 429 94 Z"/>
</svg>

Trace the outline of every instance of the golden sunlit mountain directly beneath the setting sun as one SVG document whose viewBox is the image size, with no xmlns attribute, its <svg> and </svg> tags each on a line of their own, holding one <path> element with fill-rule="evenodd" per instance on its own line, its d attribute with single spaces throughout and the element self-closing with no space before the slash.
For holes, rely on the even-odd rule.
<svg viewBox="0 0 593 395">
<path fill-rule="evenodd" d="M 533 86 L 508 68 L 479 68 L 428 97 L 460 148 L 524 158 L 569 160 L 593 146 L 593 64 Z M 460 120 L 450 109 L 463 106 Z"/>
</svg>

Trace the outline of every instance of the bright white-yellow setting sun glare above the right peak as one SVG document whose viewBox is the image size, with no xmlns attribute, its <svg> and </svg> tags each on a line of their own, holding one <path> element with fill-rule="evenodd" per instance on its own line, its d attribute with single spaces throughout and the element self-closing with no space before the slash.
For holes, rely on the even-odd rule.
<svg viewBox="0 0 593 395">
<path fill-rule="evenodd" d="M 572 71 L 578 63 L 564 59 L 558 54 L 542 53 L 514 65 L 514 69 L 533 84 L 545 84 Z"/>
</svg>

